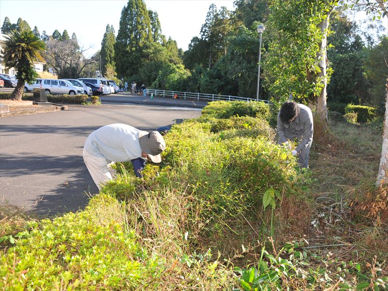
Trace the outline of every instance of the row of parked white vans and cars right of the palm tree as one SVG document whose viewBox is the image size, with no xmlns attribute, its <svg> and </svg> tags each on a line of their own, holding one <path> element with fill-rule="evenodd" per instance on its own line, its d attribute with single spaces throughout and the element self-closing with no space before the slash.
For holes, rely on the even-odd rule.
<svg viewBox="0 0 388 291">
<path fill-rule="evenodd" d="M 107 95 L 119 92 L 115 81 L 97 78 L 79 79 L 36 79 L 32 84 L 24 84 L 24 92 L 31 92 L 33 88 L 43 88 L 46 94 L 69 95 Z"/>
</svg>

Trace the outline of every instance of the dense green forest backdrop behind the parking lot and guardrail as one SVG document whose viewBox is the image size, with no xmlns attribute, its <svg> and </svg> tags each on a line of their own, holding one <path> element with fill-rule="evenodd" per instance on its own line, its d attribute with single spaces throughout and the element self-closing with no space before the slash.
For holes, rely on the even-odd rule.
<svg viewBox="0 0 388 291">
<path fill-rule="evenodd" d="M 302 83 L 298 80 L 301 77 L 288 72 L 289 69 L 295 70 L 291 68 L 294 66 L 303 73 L 303 65 L 294 64 L 293 59 L 283 60 L 283 64 L 276 59 L 274 43 L 281 33 L 287 31 L 287 22 L 282 27 L 283 23 L 275 19 L 275 15 L 287 19 L 285 12 L 283 15 L 276 12 L 276 1 L 236 0 L 234 4 L 235 11 L 210 5 L 199 37 L 192 38 L 186 51 L 179 49 L 173 39 L 166 39 L 158 13 L 148 10 L 143 0 L 128 1 L 122 9 L 117 33 L 112 25 L 107 24 L 101 49 L 91 58 L 84 56 L 85 49 L 79 45 L 75 33 L 71 37 L 66 30 L 63 33 L 55 30 L 51 35 L 46 31 L 40 34 L 36 26 L 32 31 L 46 42 L 46 69 L 54 68 L 58 78 L 93 77 L 101 68 L 109 79 L 144 83 L 149 88 L 256 97 L 257 27 L 263 24 L 266 30 L 262 34 L 259 98 L 281 100 L 290 94 L 303 98 L 302 89 L 292 88 L 296 82 Z M 287 3 L 279 5 L 287 7 Z M 387 33 L 382 34 L 380 22 L 372 20 L 361 30 L 347 16 L 349 11 L 349 6 L 337 3 L 330 16 L 327 36 L 328 107 L 341 113 L 349 103 L 383 109 L 388 71 Z M 14 29 L 31 30 L 31 27 L 21 18 L 12 24 L 5 17 L 1 31 L 6 34 Z M 304 40 L 301 35 L 292 41 Z M 279 70 L 282 70 L 283 79 L 276 76 L 280 74 Z"/>
</svg>

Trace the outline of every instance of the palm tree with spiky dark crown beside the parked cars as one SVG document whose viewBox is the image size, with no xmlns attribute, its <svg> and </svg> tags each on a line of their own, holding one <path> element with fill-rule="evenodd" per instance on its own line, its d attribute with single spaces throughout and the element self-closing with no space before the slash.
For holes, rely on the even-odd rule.
<svg viewBox="0 0 388 291">
<path fill-rule="evenodd" d="M 21 100 L 24 83 L 32 83 L 38 77 L 33 69 L 33 61 L 42 60 L 40 51 L 45 48 L 45 43 L 31 30 L 16 30 L 5 36 L 5 48 L 2 58 L 7 67 L 14 67 L 17 71 L 17 84 L 11 99 Z"/>
</svg>

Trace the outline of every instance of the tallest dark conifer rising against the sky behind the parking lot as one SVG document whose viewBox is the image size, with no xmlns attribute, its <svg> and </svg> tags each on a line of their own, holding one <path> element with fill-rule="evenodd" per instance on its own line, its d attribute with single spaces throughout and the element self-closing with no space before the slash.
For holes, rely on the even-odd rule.
<svg viewBox="0 0 388 291">
<path fill-rule="evenodd" d="M 151 21 L 143 0 L 129 0 L 121 11 L 120 27 L 114 45 L 119 77 L 136 74 L 143 64 L 143 49 L 152 42 Z"/>
</svg>

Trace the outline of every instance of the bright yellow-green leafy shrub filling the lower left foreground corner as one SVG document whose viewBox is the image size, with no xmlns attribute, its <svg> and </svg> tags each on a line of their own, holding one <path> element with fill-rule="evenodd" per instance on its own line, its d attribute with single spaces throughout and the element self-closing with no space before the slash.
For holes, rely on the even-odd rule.
<svg viewBox="0 0 388 291">
<path fill-rule="evenodd" d="M 0 256 L 0 286 L 13 290 L 147 286 L 160 276 L 162 260 L 139 246 L 124 221 L 120 203 L 99 194 L 84 211 L 30 223 L 16 235 L 15 246 Z"/>
</svg>

